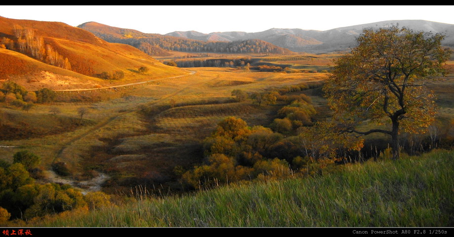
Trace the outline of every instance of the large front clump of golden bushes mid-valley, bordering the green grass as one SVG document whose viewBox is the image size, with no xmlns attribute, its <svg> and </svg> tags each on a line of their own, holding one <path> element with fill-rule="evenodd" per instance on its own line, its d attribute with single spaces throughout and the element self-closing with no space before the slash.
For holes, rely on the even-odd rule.
<svg viewBox="0 0 454 237">
<path fill-rule="evenodd" d="M 199 189 L 265 176 L 290 174 L 289 163 L 274 154 L 283 135 L 263 126 L 249 127 L 240 118 L 227 117 L 203 142 L 204 162 L 186 171 L 182 179 Z"/>
</svg>

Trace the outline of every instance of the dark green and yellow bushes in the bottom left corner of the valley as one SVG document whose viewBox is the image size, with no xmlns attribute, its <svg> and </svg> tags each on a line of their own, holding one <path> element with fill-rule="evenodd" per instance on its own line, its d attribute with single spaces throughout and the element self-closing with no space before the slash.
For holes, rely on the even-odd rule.
<svg viewBox="0 0 454 237">
<path fill-rule="evenodd" d="M 111 204 L 110 197 L 102 192 L 83 195 L 67 184 L 36 182 L 33 173 L 40 169 L 39 163 L 40 157 L 29 151 L 14 154 L 13 164 L 0 162 L 0 222 Z"/>
</svg>

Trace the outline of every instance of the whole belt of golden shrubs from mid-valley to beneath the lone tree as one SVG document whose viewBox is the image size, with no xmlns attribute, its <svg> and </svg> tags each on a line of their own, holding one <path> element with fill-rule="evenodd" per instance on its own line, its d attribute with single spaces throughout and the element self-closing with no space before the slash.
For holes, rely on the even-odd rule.
<svg viewBox="0 0 454 237">
<path fill-rule="evenodd" d="M 320 85 L 294 85 L 249 96 L 233 90 L 231 95 L 237 102 L 251 98 L 259 106 L 276 102 L 286 105 L 278 110 L 269 128 L 250 127 L 236 117 L 219 122 L 203 141 L 203 163 L 186 171 L 182 179 L 199 189 L 265 176 L 283 177 L 294 173 L 292 169 L 312 174 L 344 159 L 346 153 L 361 149 L 361 140 L 345 138 L 328 123 L 314 121 L 317 111 L 308 96 L 286 95 Z"/>
</svg>

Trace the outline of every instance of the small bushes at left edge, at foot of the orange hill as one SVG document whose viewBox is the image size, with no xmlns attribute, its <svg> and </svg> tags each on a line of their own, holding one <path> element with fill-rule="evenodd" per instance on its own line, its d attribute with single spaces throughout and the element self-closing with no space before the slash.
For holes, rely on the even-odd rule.
<svg viewBox="0 0 454 237">
<path fill-rule="evenodd" d="M 46 103 L 55 100 L 56 93 L 48 88 L 36 92 L 27 91 L 23 86 L 12 81 L 6 81 L 0 88 L 0 102 L 8 105 L 30 109 L 34 103 Z"/>
</svg>

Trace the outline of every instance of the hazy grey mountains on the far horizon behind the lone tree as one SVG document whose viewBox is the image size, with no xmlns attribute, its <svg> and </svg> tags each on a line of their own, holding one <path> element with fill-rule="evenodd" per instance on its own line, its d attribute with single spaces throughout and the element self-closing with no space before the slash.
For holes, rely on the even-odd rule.
<svg viewBox="0 0 454 237">
<path fill-rule="evenodd" d="M 331 52 L 354 47 L 356 37 L 360 35 L 365 28 L 379 28 L 391 24 L 397 24 L 399 27 L 408 27 L 415 31 L 432 32 L 434 34 L 443 33 L 446 35 L 443 44 L 447 46 L 454 45 L 454 25 L 424 20 L 390 20 L 336 28 L 328 31 L 273 28 L 258 33 L 215 32 L 203 34 L 187 31 L 172 32 L 165 35 L 203 41 L 231 42 L 244 39 L 260 39 L 294 52 Z"/>
</svg>

